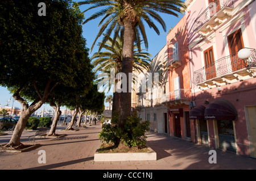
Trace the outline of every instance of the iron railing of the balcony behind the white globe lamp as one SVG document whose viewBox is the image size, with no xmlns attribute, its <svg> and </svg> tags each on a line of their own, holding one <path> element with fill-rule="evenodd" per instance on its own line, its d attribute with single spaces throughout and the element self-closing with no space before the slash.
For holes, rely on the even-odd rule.
<svg viewBox="0 0 256 181">
<path fill-rule="evenodd" d="M 251 51 L 251 56 L 247 60 L 238 58 L 238 52 L 226 57 L 222 57 L 213 64 L 204 66 L 202 69 L 196 70 L 193 73 L 193 83 L 196 85 L 203 83 L 209 79 L 219 77 L 221 75 L 233 73 L 234 71 L 243 68 L 256 68 L 256 52 L 255 49 L 248 48 Z"/>
</svg>

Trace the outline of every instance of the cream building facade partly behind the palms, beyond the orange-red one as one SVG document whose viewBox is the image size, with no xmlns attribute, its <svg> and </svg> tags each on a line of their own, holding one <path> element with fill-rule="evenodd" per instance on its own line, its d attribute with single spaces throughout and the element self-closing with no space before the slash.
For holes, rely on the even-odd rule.
<svg viewBox="0 0 256 181">
<path fill-rule="evenodd" d="M 169 95 L 167 58 L 167 45 L 165 45 L 152 58 L 151 70 L 138 75 L 140 83 L 137 92 L 137 110 L 142 121 L 150 121 L 151 130 L 169 134 L 168 107 L 163 104 Z"/>
</svg>

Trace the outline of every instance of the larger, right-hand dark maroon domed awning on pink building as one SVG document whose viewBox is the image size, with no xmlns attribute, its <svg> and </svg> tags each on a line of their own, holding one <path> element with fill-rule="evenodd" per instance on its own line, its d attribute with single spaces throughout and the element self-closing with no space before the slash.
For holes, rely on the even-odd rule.
<svg viewBox="0 0 256 181">
<path fill-rule="evenodd" d="M 237 110 L 228 100 L 218 99 L 208 104 L 204 116 L 204 119 L 236 120 Z"/>
</svg>

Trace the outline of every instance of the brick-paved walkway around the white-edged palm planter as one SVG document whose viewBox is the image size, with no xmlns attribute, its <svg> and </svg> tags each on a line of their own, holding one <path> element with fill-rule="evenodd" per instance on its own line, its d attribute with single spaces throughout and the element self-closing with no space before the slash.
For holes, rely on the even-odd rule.
<svg viewBox="0 0 256 181">
<path fill-rule="evenodd" d="M 66 126 L 67 127 L 67 126 Z M 256 159 L 216 150 L 217 163 L 210 164 L 209 148 L 155 132 L 147 133 L 147 144 L 157 153 L 156 161 L 94 162 L 100 146 L 100 125 L 92 124 L 79 131 L 60 131 L 61 138 L 37 138 L 39 148 L 23 153 L 0 153 L 0 169 L 66 169 L 66 170 L 183 170 L 183 169 L 256 169 Z M 34 131 L 24 131 L 21 141 L 28 142 Z M 9 142 L 11 133 L 0 136 L 0 144 Z M 38 163 L 39 150 L 46 151 L 46 163 Z"/>
</svg>

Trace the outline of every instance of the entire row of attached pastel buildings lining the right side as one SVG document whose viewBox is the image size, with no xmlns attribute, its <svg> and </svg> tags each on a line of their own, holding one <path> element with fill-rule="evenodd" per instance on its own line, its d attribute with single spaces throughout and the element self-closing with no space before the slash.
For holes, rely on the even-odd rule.
<svg viewBox="0 0 256 181">
<path fill-rule="evenodd" d="M 138 115 L 153 131 L 256 157 L 256 2 L 185 5 L 151 62 L 163 83 L 137 93 Z"/>
</svg>

